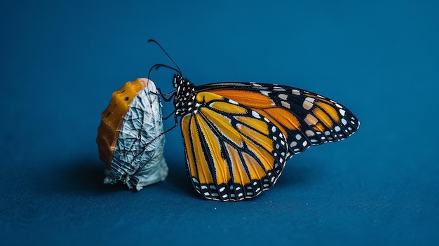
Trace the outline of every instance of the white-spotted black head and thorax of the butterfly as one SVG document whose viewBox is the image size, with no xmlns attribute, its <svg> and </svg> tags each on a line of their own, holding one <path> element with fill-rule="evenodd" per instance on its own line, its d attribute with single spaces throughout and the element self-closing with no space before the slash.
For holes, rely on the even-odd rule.
<svg viewBox="0 0 439 246">
<path fill-rule="evenodd" d="M 180 74 L 174 74 L 173 86 L 176 89 L 174 97 L 175 115 L 184 116 L 196 111 L 201 106 L 195 102 L 195 86 L 189 80 L 184 79 Z"/>
</svg>

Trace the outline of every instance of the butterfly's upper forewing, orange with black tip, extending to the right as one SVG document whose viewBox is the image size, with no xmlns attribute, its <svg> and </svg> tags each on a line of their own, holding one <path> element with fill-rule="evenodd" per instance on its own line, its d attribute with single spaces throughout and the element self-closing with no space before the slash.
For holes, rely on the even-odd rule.
<svg viewBox="0 0 439 246">
<path fill-rule="evenodd" d="M 290 155 L 311 145 L 346 139 L 360 126 L 342 104 L 290 86 L 231 82 L 199 86 L 197 90 L 217 93 L 269 118 L 287 137 Z"/>
</svg>

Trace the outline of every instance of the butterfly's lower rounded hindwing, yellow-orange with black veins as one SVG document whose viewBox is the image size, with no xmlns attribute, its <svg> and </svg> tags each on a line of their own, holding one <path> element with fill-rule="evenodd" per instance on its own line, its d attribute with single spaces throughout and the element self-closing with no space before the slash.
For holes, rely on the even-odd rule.
<svg viewBox="0 0 439 246">
<path fill-rule="evenodd" d="M 243 200 L 269 189 L 288 154 L 286 138 L 271 121 L 215 93 L 182 117 L 187 169 L 198 193 L 213 200 Z"/>
</svg>

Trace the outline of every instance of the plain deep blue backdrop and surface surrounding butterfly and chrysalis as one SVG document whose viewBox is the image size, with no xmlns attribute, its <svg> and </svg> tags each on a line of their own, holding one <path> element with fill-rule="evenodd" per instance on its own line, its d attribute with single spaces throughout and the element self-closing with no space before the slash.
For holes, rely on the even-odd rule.
<svg viewBox="0 0 439 246">
<path fill-rule="evenodd" d="M 0 244 L 438 243 L 439 2 L 286 2 L 3 1 Z M 170 64 L 147 39 L 198 85 L 304 88 L 345 104 L 360 130 L 295 156 L 249 201 L 195 193 L 179 129 L 166 181 L 104 185 L 100 113 Z M 152 79 L 170 91 L 172 75 Z"/>
</svg>

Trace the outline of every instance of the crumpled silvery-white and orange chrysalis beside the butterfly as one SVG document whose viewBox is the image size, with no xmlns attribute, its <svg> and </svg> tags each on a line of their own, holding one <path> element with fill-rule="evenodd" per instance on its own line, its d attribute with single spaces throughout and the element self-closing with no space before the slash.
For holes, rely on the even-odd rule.
<svg viewBox="0 0 439 246">
<path fill-rule="evenodd" d="M 127 82 L 112 95 L 97 128 L 97 148 L 107 165 L 105 184 L 142 189 L 166 179 L 161 102 L 147 78 Z"/>
</svg>

